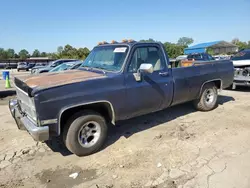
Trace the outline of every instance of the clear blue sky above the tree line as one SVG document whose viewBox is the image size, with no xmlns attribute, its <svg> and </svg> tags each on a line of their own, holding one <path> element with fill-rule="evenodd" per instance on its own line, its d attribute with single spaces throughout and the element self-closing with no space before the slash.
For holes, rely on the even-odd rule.
<svg viewBox="0 0 250 188">
<path fill-rule="evenodd" d="M 250 0 L 2 0 L 0 48 L 57 51 L 70 44 L 153 38 L 194 44 L 250 40 Z"/>
</svg>

